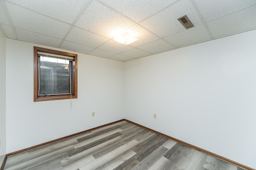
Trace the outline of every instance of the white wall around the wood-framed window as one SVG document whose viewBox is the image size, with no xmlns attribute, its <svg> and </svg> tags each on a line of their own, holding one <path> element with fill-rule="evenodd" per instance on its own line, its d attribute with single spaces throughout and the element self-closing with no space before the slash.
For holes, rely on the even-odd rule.
<svg viewBox="0 0 256 170">
<path fill-rule="evenodd" d="M 81 53 L 72 110 L 70 99 L 33 102 L 34 46 L 45 47 L 6 40 L 7 153 L 124 119 L 124 63 Z"/>
</svg>

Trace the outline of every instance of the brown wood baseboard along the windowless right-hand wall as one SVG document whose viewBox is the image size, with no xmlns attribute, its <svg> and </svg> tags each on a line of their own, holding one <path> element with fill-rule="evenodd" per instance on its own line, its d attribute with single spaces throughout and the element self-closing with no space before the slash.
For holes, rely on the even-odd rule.
<svg viewBox="0 0 256 170">
<path fill-rule="evenodd" d="M 130 123 L 132 123 L 132 124 L 134 124 L 134 125 L 137 125 L 137 126 L 139 126 L 139 127 L 142 127 L 142 128 L 147 129 L 147 130 L 150 130 L 150 131 L 152 131 L 152 132 L 154 132 L 154 133 L 160 134 L 160 135 L 162 135 L 162 136 L 164 136 L 164 137 L 166 137 L 166 138 L 169 138 L 169 139 L 171 139 L 171 140 L 174 140 L 174 141 L 176 141 L 176 142 L 179 142 L 179 143 L 181 143 L 181 144 L 184 144 L 184 145 L 186 145 L 186 146 L 188 146 L 188 147 L 190 147 L 190 148 L 196 149 L 196 150 L 198 150 L 198 151 L 200 151 L 200 152 L 204 152 L 205 154 L 208 154 L 208 155 L 210 155 L 210 156 L 213 156 L 213 157 L 219 158 L 219 159 L 221 159 L 221 160 L 224 160 L 224 161 L 226 161 L 226 162 L 228 162 L 228 163 L 230 163 L 230 164 L 234 164 L 234 165 L 236 165 L 236 166 L 240 166 L 241 168 L 245 168 L 245 169 L 247 169 L 247 170 L 255 170 L 254 168 L 250 168 L 249 166 L 240 164 L 240 163 L 235 162 L 235 161 L 233 161 L 233 160 L 230 160 L 230 159 L 228 159 L 228 158 L 224 158 L 223 156 L 220 156 L 220 155 L 218 155 L 218 154 L 214 154 L 214 153 L 212 153 L 212 152 L 209 152 L 208 150 L 204 150 L 204 149 L 202 149 L 202 148 L 199 148 L 199 147 L 194 146 L 194 145 L 192 145 L 192 144 L 189 144 L 189 143 L 187 143 L 187 142 L 183 142 L 182 140 L 178 140 L 178 139 L 176 139 L 176 138 L 173 138 L 173 137 L 171 137 L 171 136 L 168 136 L 168 135 L 166 135 L 166 134 L 163 134 L 163 133 L 158 132 L 158 131 L 156 131 L 156 130 L 153 130 L 153 129 L 151 129 L 151 128 L 144 127 L 144 126 L 142 126 L 142 125 L 140 125 L 140 124 L 138 124 L 138 123 L 134 123 L 134 122 L 129 121 L 129 120 L 127 120 L 127 119 L 124 119 L 124 120 L 127 121 L 127 122 L 130 122 Z"/>
</svg>

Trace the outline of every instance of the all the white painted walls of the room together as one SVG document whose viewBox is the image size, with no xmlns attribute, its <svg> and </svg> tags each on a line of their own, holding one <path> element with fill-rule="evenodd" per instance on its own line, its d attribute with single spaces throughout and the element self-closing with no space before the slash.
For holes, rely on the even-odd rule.
<svg viewBox="0 0 256 170">
<path fill-rule="evenodd" d="M 0 153 L 124 119 L 125 111 L 130 121 L 256 168 L 255 37 L 256 30 L 125 63 L 78 53 L 71 111 L 70 100 L 33 102 L 33 46 L 45 46 L 0 39 Z"/>
</svg>

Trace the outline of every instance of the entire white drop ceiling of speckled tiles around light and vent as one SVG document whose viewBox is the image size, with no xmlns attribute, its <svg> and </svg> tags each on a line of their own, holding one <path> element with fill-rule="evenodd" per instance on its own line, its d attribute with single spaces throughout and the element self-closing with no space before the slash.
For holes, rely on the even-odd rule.
<svg viewBox="0 0 256 170">
<path fill-rule="evenodd" d="M 119 61 L 255 29 L 256 0 L 0 0 L 0 36 Z"/>
</svg>

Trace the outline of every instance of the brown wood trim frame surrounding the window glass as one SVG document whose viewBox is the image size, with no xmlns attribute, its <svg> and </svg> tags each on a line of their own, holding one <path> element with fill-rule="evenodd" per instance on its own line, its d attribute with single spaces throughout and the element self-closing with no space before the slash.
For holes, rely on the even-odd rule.
<svg viewBox="0 0 256 170">
<path fill-rule="evenodd" d="M 52 96 L 38 96 L 38 54 L 37 51 L 40 52 L 46 52 L 46 53 L 53 53 L 53 54 L 58 54 L 58 55 L 66 55 L 66 56 L 70 56 L 70 57 L 74 57 L 74 61 L 75 62 L 75 73 L 74 73 L 74 77 L 75 79 L 72 81 L 72 89 L 74 89 L 72 91 L 72 97 L 70 97 L 70 95 L 52 95 Z M 76 99 L 77 98 L 77 54 L 73 54 L 73 53 L 66 53 L 63 51 L 56 51 L 53 49 L 46 49 L 46 48 L 42 48 L 42 47 L 35 47 L 34 46 L 34 102 L 36 101 L 51 101 L 51 100 L 61 100 L 61 99 Z"/>
</svg>

